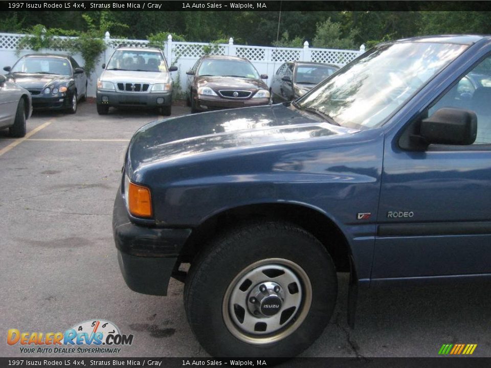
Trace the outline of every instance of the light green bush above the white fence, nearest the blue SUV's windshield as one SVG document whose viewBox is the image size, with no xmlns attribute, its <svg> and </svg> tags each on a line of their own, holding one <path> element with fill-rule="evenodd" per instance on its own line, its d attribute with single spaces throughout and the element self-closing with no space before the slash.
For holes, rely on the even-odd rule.
<svg viewBox="0 0 491 368">
<path fill-rule="evenodd" d="M 358 33 L 358 29 L 354 28 L 349 30 L 347 35 L 343 35 L 341 23 L 333 22 L 328 18 L 324 22 L 317 24 L 314 47 L 346 50 L 358 49 L 358 46 L 354 42 L 354 38 Z"/>
</svg>

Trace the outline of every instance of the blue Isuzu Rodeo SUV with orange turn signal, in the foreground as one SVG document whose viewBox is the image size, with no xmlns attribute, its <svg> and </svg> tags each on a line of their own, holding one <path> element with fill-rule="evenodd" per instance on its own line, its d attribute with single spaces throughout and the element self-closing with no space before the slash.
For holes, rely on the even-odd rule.
<svg viewBox="0 0 491 368">
<path fill-rule="evenodd" d="M 300 99 L 143 126 L 114 206 L 127 285 L 185 282 L 216 356 L 292 356 L 336 272 L 375 283 L 491 274 L 491 37 L 367 51 Z M 189 271 L 183 264 L 190 263 Z"/>
</svg>

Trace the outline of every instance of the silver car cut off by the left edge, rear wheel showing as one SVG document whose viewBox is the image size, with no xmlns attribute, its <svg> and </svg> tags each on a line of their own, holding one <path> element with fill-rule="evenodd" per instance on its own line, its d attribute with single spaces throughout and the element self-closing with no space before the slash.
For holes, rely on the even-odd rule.
<svg viewBox="0 0 491 368">
<path fill-rule="evenodd" d="M 26 120 L 31 117 L 32 100 L 27 89 L 0 75 L 0 129 L 9 128 L 12 137 L 26 135 Z"/>
</svg>

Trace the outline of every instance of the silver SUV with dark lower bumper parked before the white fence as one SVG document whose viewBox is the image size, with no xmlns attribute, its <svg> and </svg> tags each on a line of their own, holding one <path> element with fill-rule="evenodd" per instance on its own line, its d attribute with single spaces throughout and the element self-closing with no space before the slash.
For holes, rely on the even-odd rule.
<svg viewBox="0 0 491 368">
<path fill-rule="evenodd" d="M 158 108 L 169 116 L 172 103 L 172 78 L 162 50 L 120 47 L 111 55 L 97 80 L 97 112 L 107 114 L 109 107 Z"/>
</svg>

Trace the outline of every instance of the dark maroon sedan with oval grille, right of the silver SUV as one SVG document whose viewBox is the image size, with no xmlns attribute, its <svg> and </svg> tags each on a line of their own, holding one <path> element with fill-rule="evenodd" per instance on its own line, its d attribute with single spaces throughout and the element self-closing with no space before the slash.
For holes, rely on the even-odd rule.
<svg viewBox="0 0 491 368">
<path fill-rule="evenodd" d="M 247 59 L 233 56 L 203 56 L 186 72 L 191 112 L 266 105 L 270 92 Z"/>
</svg>

